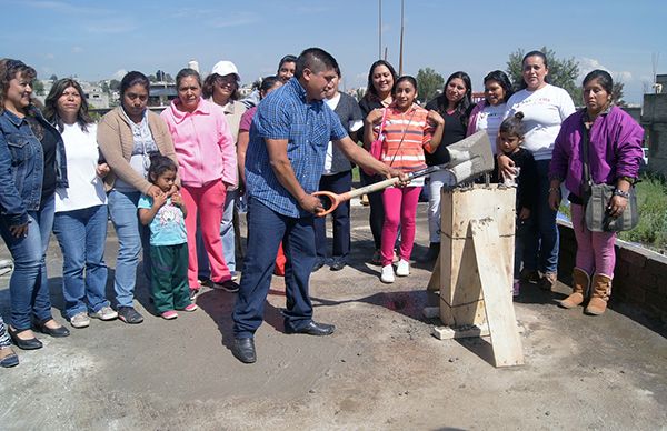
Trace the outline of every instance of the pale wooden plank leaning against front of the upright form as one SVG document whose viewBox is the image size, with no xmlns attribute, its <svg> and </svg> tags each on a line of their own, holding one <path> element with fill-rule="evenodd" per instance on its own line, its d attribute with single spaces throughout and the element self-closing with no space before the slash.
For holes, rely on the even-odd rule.
<svg viewBox="0 0 667 431">
<path fill-rule="evenodd" d="M 477 269 L 486 302 L 487 323 L 496 367 L 524 364 L 514 304 L 511 275 L 502 255 L 498 225 L 494 219 L 470 220 Z M 498 253 L 500 251 L 500 253 Z M 500 255 L 499 255 L 500 254 Z"/>
</svg>

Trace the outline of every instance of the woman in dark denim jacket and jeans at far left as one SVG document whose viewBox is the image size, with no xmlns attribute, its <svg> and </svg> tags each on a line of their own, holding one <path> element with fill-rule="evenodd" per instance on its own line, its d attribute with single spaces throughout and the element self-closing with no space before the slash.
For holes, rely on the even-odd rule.
<svg viewBox="0 0 667 431">
<path fill-rule="evenodd" d="M 53 196 L 57 187 L 68 187 L 64 146 L 31 103 L 36 76 L 22 61 L 0 60 L 0 234 L 14 260 L 8 332 L 26 350 L 42 347 L 31 315 L 41 332 L 69 335 L 51 315 L 46 265 Z"/>
</svg>

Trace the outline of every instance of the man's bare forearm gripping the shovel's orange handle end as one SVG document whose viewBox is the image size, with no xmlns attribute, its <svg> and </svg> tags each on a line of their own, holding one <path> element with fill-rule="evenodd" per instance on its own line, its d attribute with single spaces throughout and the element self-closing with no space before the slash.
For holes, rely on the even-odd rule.
<svg viewBox="0 0 667 431">
<path fill-rule="evenodd" d="M 306 193 L 297 180 L 291 162 L 287 157 L 287 139 L 265 139 L 265 141 L 267 143 L 269 163 L 280 184 L 295 197 L 303 210 L 313 214 L 323 211 L 319 198 Z"/>
</svg>

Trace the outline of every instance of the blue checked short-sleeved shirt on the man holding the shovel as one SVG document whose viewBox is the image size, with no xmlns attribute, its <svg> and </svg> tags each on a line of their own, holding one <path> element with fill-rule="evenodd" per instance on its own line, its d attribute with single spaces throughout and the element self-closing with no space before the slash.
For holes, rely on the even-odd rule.
<svg viewBox="0 0 667 431">
<path fill-rule="evenodd" d="M 296 78 L 259 103 L 246 153 L 248 194 L 279 214 L 310 216 L 285 189 L 269 164 L 265 139 L 287 139 L 287 157 L 307 193 L 318 190 L 329 141 L 347 136 L 338 116 L 322 101 L 306 101 L 306 90 Z"/>
</svg>

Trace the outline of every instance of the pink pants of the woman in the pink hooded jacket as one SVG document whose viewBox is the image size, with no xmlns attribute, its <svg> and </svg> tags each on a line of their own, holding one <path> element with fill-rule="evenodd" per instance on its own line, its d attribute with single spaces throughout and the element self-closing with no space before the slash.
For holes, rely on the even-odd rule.
<svg viewBox="0 0 667 431">
<path fill-rule="evenodd" d="M 198 289 L 197 282 L 197 210 L 199 211 L 199 227 L 203 239 L 203 247 L 211 265 L 211 280 L 220 283 L 231 279 L 231 273 L 225 257 L 222 255 L 222 240 L 220 239 L 220 222 L 222 221 L 222 208 L 227 190 L 222 181 L 212 181 L 203 187 L 183 186 L 181 194 L 188 217 L 186 217 L 186 229 L 188 230 L 188 282 L 190 289 Z"/>
</svg>

